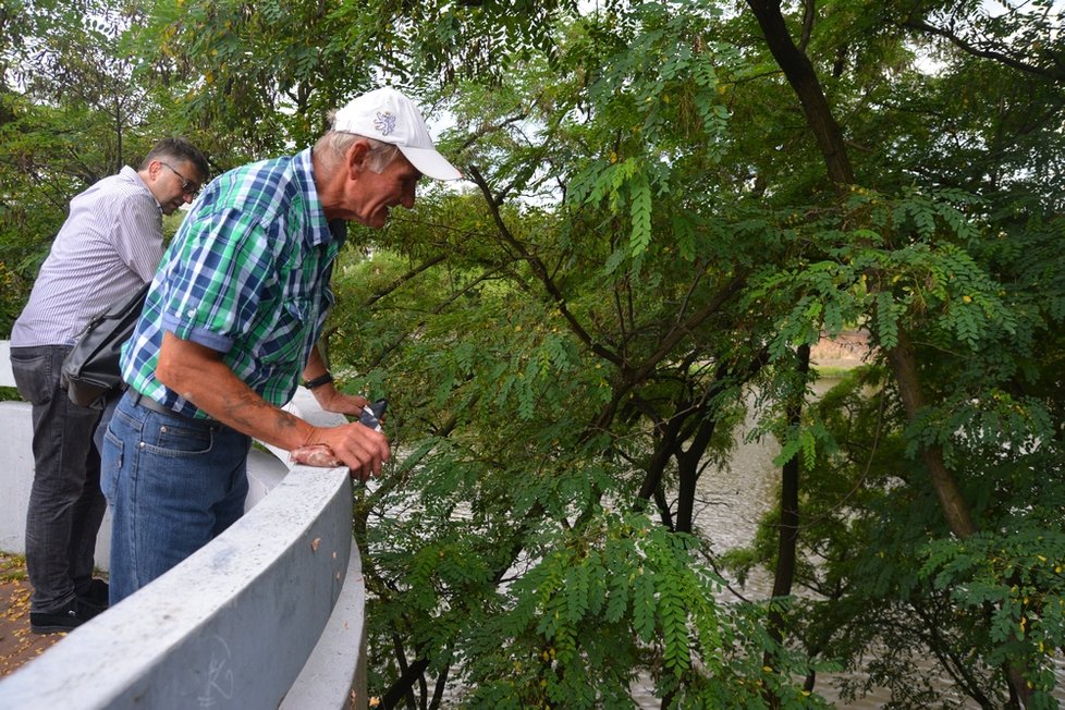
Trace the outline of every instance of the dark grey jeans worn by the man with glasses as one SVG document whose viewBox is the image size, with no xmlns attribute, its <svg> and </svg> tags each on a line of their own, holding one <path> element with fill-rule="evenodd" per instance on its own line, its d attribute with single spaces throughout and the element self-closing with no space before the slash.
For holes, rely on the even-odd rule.
<svg viewBox="0 0 1065 710">
<path fill-rule="evenodd" d="M 19 394 L 33 405 L 34 483 L 26 511 L 29 610 L 60 610 L 93 582 L 96 535 L 107 504 L 93 431 L 97 409 L 70 401 L 59 385 L 66 345 L 12 347 Z"/>
</svg>

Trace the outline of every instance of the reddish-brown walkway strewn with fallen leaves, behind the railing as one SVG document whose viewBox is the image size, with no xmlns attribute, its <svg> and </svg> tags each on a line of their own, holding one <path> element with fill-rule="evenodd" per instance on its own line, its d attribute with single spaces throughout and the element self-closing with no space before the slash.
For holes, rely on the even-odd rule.
<svg viewBox="0 0 1065 710">
<path fill-rule="evenodd" d="M 0 552 L 0 676 L 14 673 L 65 635 L 29 631 L 25 560 Z"/>
</svg>

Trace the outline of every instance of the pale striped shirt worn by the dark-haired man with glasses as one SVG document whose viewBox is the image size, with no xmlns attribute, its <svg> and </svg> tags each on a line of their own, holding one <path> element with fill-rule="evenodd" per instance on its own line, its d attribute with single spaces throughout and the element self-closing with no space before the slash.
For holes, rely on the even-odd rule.
<svg viewBox="0 0 1065 710">
<path fill-rule="evenodd" d="M 69 345 L 89 318 L 151 280 L 162 258 L 162 208 L 133 168 L 71 200 L 12 347 Z"/>
</svg>

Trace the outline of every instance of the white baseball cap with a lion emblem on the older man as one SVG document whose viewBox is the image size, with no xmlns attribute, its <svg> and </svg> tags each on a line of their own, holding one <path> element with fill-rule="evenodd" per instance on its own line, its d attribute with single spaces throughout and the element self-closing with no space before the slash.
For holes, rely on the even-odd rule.
<svg viewBox="0 0 1065 710">
<path fill-rule="evenodd" d="M 352 99 L 336 111 L 333 131 L 391 143 L 421 174 L 434 180 L 462 178 L 462 173 L 432 147 L 418 107 L 394 88 L 375 89 Z"/>
</svg>

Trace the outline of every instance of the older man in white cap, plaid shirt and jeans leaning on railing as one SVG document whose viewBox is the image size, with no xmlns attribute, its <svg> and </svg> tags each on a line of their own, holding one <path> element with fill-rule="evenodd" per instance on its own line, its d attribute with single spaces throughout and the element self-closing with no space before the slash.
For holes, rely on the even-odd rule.
<svg viewBox="0 0 1065 710">
<path fill-rule="evenodd" d="M 241 516 L 253 438 L 289 451 L 322 444 L 353 475 L 380 474 L 382 433 L 315 427 L 279 407 L 301 375 L 327 411 L 367 404 L 333 388 L 316 345 L 340 247 L 330 222 L 383 227 L 393 207 L 414 206 L 423 175 L 460 178 L 414 103 L 382 88 L 338 111 L 313 149 L 232 170 L 204 191 L 123 350 L 130 388 L 103 444 L 112 604 Z"/>
</svg>

